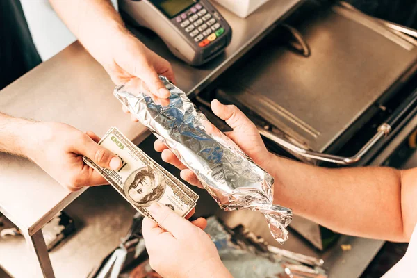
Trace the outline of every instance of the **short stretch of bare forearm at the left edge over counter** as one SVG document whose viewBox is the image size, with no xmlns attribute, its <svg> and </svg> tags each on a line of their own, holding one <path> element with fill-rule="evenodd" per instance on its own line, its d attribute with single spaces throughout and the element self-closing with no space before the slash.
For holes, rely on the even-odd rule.
<svg viewBox="0 0 417 278">
<path fill-rule="evenodd" d="M 31 136 L 33 122 L 0 113 L 0 152 L 26 156 L 25 138 Z"/>
</svg>

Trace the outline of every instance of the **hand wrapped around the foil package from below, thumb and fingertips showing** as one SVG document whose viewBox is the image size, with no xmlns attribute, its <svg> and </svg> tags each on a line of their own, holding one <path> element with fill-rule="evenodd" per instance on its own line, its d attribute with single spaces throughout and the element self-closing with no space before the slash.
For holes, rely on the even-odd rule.
<svg viewBox="0 0 417 278">
<path fill-rule="evenodd" d="M 211 110 L 216 116 L 220 117 L 220 119 L 225 120 L 233 129 L 233 131 L 226 132 L 226 135 L 231 138 L 245 154 L 250 156 L 256 164 L 267 172 L 270 172 L 269 168 L 272 154 L 266 149 L 255 124 L 236 106 L 221 104 L 217 99 L 211 101 Z M 163 161 L 170 163 L 181 170 L 182 179 L 194 186 L 202 187 L 197 176 L 195 176 L 191 170 L 188 170 L 161 140 L 155 141 L 154 148 L 157 152 L 162 152 L 161 156 Z"/>
</svg>

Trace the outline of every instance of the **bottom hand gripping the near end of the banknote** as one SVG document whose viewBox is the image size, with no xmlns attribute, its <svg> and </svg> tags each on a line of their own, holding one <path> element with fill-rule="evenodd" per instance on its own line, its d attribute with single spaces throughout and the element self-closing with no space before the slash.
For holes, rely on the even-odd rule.
<svg viewBox="0 0 417 278">
<path fill-rule="evenodd" d="M 231 277 L 211 238 L 203 231 L 207 225 L 204 218 L 189 222 L 158 203 L 148 209 L 166 229 L 150 218 L 142 223 L 149 263 L 156 272 L 167 278 Z"/>
</svg>

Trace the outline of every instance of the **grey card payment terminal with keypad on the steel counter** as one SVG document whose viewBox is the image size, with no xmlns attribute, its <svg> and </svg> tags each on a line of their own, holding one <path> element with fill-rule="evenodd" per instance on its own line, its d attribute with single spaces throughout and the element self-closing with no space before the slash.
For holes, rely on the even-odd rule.
<svg viewBox="0 0 417 278">
<path fill-rule="evenodd" d="M 190 65 L 211 60 L 231 40 L 229 24 L 207 0 L 122 0 L 120 9 Z"/>
</svg>

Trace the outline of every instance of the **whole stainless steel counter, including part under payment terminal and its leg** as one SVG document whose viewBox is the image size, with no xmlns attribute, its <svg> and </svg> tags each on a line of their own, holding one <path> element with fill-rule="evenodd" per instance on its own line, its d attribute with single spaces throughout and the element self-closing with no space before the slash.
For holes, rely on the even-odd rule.
<svg viewBox="0 0 417 278">
<path fill-rule="evenodd" d="M 199 92 L 279 22 L 300 0 L 273 0 L 246 19 L 240 19 L 222 7 L 220 13 L 234 30 L 231 44 L 222 56 L 203 67 L 195 68 L 174 58 L 165 45 L 149 32 L 133 31 L 161 56 L 170 60 L 180 88 L 192 94 Z M 132 124 L 112 95 L 114 85 L 101 66 L 79 42 L 36 67 L 0 92 L 0 111 L 16 117 L 41 121 L 65 122 L 81 131 L 92 130 L 101 135 L 117 126 L 138 143 L 149 132 L 140 124 Z M 65 208 L 83 190 L 70 193 L 40 167 L 24 158 L 0 154 L 0 212 L 18 225 L 42 265 L 43 275 L 53 277 L 41 228 L 58 211 Z M 36 246 L 36 242 L 40 245 Z M 97 254 L 101 256 L 104 254 Z M 17 258 L 16 258 L 17 260 Z M 10 273 L 22 271 L 10 265 L 8 252 L 0 251 L 0 264 Z M 29 265 L 29 264 L 28 264 Z M 35 272 L 24 268 L 31 277 Z M 20 272 L 19 272 L 20 273 Z"/>
</svg>

